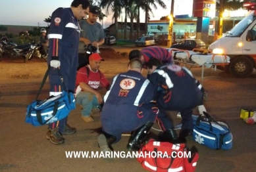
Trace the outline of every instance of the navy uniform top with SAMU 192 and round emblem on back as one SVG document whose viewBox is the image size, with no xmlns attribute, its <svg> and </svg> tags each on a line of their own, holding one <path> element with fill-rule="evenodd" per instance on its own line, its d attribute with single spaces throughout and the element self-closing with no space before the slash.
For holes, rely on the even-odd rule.
<svg viewBox="0 0 256 172">
<path fill-rule="evenodd" d="M 153 85 L 139 72 L 128 71 L 113 78 L 111 89 L 104 97 L 104 107 L 120 108 L 136 113 L 138 106 L 153 98 Z"/>
</svg>

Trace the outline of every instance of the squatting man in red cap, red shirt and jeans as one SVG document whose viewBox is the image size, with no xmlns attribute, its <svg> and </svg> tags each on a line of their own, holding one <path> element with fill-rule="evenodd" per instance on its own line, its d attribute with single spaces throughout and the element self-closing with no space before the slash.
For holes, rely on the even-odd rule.
<svg viewBox="0 0 256 172">
<path fill-rule="evenodd" d="M 93 121 L 91 110 L 97 108 L 99 104 L 103 104 L 103 97 L 97 89 L 99 85 L 105 89 L 109 89 L 109 81 L 105 75 L 99 70 L 101 61 L 104 61 L 97 53 L 93 53 L 89 57 L 90 64 L 78 70 L 76 74 L 76 103 L 82 106 L 82 119 L 86 122 Z"/>
</svg>

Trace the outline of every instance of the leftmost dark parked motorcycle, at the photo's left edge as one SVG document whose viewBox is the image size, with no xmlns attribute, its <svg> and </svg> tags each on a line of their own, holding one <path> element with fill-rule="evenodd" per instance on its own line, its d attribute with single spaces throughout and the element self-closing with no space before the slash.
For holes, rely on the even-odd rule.
<svg viewBox="0 0 256 172">
<path fill-rule="evenodd" d="M 28 50 L 30 49 L 30 44 L 27 45 L 16 45 L 16 43 L 2 41 L 3 56 L 22 56 L 25 58 Z"/>
</svg>

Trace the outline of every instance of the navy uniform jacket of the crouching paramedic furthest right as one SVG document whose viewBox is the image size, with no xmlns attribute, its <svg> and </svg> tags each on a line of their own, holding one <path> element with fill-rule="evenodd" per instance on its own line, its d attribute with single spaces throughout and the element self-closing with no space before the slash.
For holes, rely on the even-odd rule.
<svg viewBox="0 0 256 172">
<path fill-rule="evenodd" d="M 201 85 L 187 68 L 176 64 L 159 66 L 149 80 L 154 85 L 154 99 L 159 109 L 182 110 L 194 108 L 203 98 Z"/>
</svg>

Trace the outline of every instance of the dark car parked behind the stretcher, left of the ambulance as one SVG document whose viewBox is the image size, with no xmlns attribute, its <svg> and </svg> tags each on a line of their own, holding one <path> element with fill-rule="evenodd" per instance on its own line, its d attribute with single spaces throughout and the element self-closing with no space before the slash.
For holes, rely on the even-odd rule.
<svg viewBox="0 0 256 172">
<path fill-rule="evenodd" d="M 201 39 L 185 39 L 179 43 L 173 44 L 170 48 L 175 49 L 184 49 L 184 50 L 193 50 L 193 49 L 205 49 L 205 43 Z"/>
</svg>

